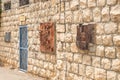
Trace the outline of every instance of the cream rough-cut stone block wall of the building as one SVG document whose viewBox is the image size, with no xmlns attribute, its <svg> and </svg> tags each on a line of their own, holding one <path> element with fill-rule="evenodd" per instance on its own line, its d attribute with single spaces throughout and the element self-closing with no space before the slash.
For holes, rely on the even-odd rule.
<svg viewBox="0 0 120 80">
<path fill-rule="evenodd" d="M 3 1 L 3 0 L 2 0 Z M 4 1 L 3 1 L 4 3 Z M 28 26 L 28 72 L 46 80 L 120 80 L 120 0 L 30 0 L 2 12 L 0 59 L 19 68 L 19 17 Z M 2 4 L 3 6 L 3 4 Z M 39 26 L 56 23 L 56 53 L 40 51 Z M 76 46 L 77 26 L 95 24 L 95 44 L 89 50 Z M 4 41 L 11 32 L 11 42 Z"/>
</svg>

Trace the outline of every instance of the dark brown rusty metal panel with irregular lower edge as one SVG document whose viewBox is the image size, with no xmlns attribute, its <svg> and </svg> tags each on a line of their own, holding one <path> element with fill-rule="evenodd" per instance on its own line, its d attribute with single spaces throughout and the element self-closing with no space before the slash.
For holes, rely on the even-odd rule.
<svg viewBox="0 0 120 80">
<path fill-rule="evenodd" d="M 94 43 L 94 25 L 77 26 L 76 45 L 78 48 L 87 50 L 89 43 Z"/>
</svg>

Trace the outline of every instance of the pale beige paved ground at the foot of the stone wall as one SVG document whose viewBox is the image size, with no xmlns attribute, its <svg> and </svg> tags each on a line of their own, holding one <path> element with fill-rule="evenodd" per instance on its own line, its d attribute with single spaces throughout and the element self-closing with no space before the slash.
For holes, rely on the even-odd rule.
<svg viewBox="0 0 120 80">
<path fill-rule="evenodd" d="M 0 67 L 0 80 L 43 80 L 18 70 Z"/>
</svg>

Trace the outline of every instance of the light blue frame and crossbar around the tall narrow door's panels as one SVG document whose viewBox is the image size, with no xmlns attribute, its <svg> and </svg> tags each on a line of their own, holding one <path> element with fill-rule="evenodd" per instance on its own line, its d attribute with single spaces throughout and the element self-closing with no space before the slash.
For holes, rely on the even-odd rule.
<svg viewBox="0 0 120 80">
<path fill-rule="evenodd" d="M 20 29 L 21 28 L 23 28 L 23 27 L 25 27 L 25 28 L 27 28 L 27 63 L 26 63 L 26 65 L 27 65 L 27 69 L 26 70 L 24 70 L 24 69 L 21 69 L 20 68 L 20 49 L 21 49 L 21 47 L 20 47 Z M 21 26 L 19 26 L 19 70 L 20 71 L 23 71 L 23 72 L 27 72 L 27 70 L 28 70 L 28 26 L 27 25 L 21 25 Z"/>
</svg>

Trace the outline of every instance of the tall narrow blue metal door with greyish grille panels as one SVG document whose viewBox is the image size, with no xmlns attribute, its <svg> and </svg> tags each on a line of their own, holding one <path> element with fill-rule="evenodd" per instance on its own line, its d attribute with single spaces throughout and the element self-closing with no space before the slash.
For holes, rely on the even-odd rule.
<svg viewBox="0 0 120 80">
<path fill-rule="evenodd" d="M 27 70 L 27 27 L 20 27 L 20 69 Z"/>
</svg>

